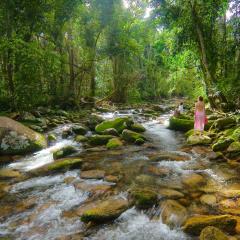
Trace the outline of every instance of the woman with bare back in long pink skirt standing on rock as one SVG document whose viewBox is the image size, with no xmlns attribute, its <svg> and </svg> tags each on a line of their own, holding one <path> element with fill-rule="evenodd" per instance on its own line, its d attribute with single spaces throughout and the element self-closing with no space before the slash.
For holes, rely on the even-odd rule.
<svg viewBox="0 0 240 240">
<path fill-rule="evenodd" d="M 195 104 L 194 113 L 194 130 L 195 132 L 200 132 L 200 135 L 204 130 L 205 117 L 205 104 L 203 102 L 203 97 L 200 96 Z"/>
</svg>

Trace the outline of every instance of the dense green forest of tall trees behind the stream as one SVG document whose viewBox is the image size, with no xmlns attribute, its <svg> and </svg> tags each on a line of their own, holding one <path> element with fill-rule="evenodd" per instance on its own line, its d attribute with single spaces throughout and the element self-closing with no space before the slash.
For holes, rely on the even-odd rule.
<svg viewBox="0 0 240 240">
<path fill-rule="evenodd" d="M 239 16 L 238 0 L 1 0 L 1 109 L 200 94 L 233 108 Z"/>
</svg>

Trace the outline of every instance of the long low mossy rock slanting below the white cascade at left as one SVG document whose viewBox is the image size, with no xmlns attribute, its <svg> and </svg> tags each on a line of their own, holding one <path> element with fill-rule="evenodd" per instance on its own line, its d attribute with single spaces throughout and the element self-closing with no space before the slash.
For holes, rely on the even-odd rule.
<svg viewBox="0 0 240 240">
<path fill-rule="evenodd" d="M 30 175 L 34 175 L 34 176 L 47 175 L 52 172 L 62 172 L 62 171 L 67 171 L 69 169 L 80 168 L 81 165 L 82 165 L 82 159 L 80 158 L 59 159 L 43 167 L 30 171 Z"/>
</svg>

